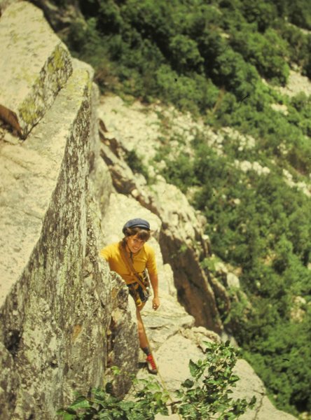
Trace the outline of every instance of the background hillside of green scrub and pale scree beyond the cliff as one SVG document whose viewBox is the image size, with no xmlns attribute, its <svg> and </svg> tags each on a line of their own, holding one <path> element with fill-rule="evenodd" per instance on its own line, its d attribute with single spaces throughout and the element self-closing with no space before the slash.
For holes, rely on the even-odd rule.
<svg viewBox="0 0 311 420">
<path fill-rule="evenodd" d="M 310 419 L 310 1 L 33 3 L 95 69 L 134 177 L 173 184 L 196 212 L 195 251 L 185 232 L 170 253 L 163 229 L 179 302 L 234 337 L 278 409 Z"/>
</svg>

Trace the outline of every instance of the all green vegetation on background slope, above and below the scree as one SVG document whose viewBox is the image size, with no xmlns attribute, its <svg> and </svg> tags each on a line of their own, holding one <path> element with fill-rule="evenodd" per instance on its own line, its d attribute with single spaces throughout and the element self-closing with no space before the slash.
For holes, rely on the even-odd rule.
<svg viewBox="0 0 311 420">
<path fill-rule="evenodd" d="M 242 270 L 251 309 L 236 302 L 223 321 L 277 407 L 311 412 L 310 197 L 284 182 L 284 173 L 297 186 L 310 182 L 311 99 L 277 90 L 290 69 L 311 78 L 310 1 L 79 3 L 85 20 L 72 23 L 66 42 L 95 67 L 102 92 L 160 99 L 215 130 L 256 139 L 247 148 L 228 135 L 219 155 L 197 136 L 194 158 L 181 151 L 174 160 L 167 139 L 159 156 L 167 180 L 184 191 L 195 186 L 214 253 Z M 269 172 L 242 172 L 236 161 L 244 160 Z"/>
</svg>

